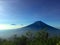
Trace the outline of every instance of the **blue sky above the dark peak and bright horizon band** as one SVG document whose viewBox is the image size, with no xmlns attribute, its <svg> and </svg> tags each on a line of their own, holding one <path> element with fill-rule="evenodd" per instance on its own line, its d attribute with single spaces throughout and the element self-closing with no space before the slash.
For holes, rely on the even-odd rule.
<svg viewBox="0 0 60 45">
<path fill-rule="evenodd" d="M 28 25 L 41 20 L 60 26 L 60 0 L 0 0 L 0 24 Z"/>
</svg>

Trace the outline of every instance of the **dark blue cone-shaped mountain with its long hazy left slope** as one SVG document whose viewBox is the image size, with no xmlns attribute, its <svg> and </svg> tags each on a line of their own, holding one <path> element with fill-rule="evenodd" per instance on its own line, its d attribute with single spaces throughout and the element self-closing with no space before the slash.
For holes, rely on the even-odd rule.
<svg viewBox="0 0 60 45">
<path fill-rule="evenodd" d="M 15 34 L 21 36 L 21 35 L 24 35 L 27 31 L 37 32 L 40 30 L 44 30 L 44 31 L 48 32 L 50 34 L 50 36 L 53 36 L 53 35 L 59 36 L 60 35 L 59 29 L 56 29 L 50 25 L 47 25 L 42 21 L 36 21 L 28 26 L 25 26 L 25 27 L 22 27 L 19 29 L 3 30 L 3 31 L 1 30 L 0 37 L 8 38 Z"/>
</svg>

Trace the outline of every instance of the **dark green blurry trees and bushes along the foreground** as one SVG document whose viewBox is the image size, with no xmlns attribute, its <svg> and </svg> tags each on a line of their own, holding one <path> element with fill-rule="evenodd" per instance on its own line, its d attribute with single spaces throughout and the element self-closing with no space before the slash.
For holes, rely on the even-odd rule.
<svg viewBox="0 0 60 45">
<path fill-rule="evenodd" d="M 26 35 L 17 37 L 14 35 L 9 40 L 0 39 L 0 45 L 60 45 L 60 37 L 49 37 L 49 34 L 45 31 L 27 32 Z"/>
</svg>

